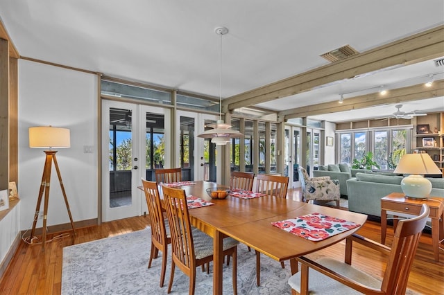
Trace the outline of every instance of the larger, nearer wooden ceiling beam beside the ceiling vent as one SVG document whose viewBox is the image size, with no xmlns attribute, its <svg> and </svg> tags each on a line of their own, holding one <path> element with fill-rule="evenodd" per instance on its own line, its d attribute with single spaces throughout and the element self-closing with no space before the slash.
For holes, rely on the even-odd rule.
<svg viewBox="0 0 444 295">
<path fill-rule="evenodd" d="M 226 98 L 222 104 L 228 110 L 249 107 L 390 66 L 415 64 L 441 57 L 443 48 L 444 26 L 437 26 L 370 51 L 352 55 L 345 60 Z"/>
</svg>

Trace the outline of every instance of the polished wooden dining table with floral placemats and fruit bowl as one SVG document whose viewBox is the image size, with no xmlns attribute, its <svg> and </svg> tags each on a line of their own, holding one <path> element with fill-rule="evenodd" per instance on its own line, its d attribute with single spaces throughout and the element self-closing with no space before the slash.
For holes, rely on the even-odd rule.
<svg viewBox="0 0 444 295">
<path fill-rule="evenodd" d="M 231 237 L 277 261 L 290 260 L 291 271 L 297 269 L 299 256 L 318 251 L 344 240 L 359 230 L 361 226 L 344 231 L 319 242 L 312 242 L 288 233 L 271 222 L 278 222 L 310 213 L 321 213 L 343 220 L 364 224 L 367 215 L 297 202 L 278 197 L 257 197 L 241 199 L 228 196 L 226 199 L 212 199 L 206 193 L 207 188 L 219 187 L 207 181 L 194 181 L 195 185 L 182 186 L 187 196 L 193 195 L 214 203 L 189 210 L 191 224 L 210 235 L 213 239 L 214 267 L 213 294 L 222 294 L 222 241 Z"/>
</svg>

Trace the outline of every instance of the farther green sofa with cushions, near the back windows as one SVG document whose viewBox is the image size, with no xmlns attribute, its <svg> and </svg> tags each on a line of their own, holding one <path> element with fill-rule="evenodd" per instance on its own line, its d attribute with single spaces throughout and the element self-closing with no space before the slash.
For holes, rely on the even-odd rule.
<svg viewBox="0 0 444 295">
<path fill-rule="evenodd" d="M 339 187 L 341 188 L 341 196 L 347 196 L 347 181 L 355 177 L 357 173 L 372 173 L 372 170 L 365 169 L 350 169 L 347 163 L 330 164 L 325 166 L 318 166 L 318 170 L 313 171 L 313 177 L 330 176 L 330 179 L 339 180 Z"/>
</svg>

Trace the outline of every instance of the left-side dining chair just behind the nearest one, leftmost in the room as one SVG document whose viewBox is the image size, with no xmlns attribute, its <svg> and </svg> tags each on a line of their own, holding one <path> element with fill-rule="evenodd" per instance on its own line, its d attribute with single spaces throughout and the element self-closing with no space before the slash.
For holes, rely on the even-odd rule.
<svg viewBox="0 0 444 295">
<path fill-rule="evenodd" d="M 167 270 L 168 244 L 171 244 L 168 220 L 164 219 L 159 190 L 155 181 L 142 179 L 146 205 L 151 220 L 151 253 L 148 269 L 153 258 L 157 258 L 159 250 L 162 251 L 162 269 L 160 271 L 160 287 L 164 286 L 165 271 Z"/>
</svg>

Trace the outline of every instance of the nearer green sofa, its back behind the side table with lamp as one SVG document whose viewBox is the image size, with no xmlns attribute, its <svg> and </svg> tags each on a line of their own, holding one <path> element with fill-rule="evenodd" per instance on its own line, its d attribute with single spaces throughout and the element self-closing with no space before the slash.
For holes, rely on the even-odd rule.
<svg viewBox="0 0 444 295">
<path fill-rule="evenodd" d="M 357 173 L 348 179 L 348 210 L 381 217 L 381 199 L 390 193 L 402 193 L 402 176 Z M 444 178 L 427 178 L 432 182 L 433 197 L 444 198 Z"/>
</svg>

